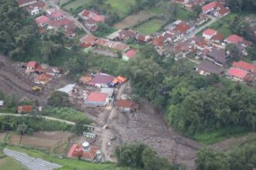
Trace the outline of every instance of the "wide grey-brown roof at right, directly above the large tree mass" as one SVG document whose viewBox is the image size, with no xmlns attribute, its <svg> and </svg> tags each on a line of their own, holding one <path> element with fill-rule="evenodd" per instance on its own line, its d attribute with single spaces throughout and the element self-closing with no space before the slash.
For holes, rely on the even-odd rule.
<svg viewBox="0 0 256 170">
<path fill-rule="evenodd" d="M 202 60 L 201 63 L 199 63 L 197 66 L 195 66 L 199 70 L 203 70 L 207 73 L 216 73 L 221 74 L 224 72 L 223 68 L 220 66 L 217 66 L 216 64 L 208 61 L 208 60 Z"/>
</svg>

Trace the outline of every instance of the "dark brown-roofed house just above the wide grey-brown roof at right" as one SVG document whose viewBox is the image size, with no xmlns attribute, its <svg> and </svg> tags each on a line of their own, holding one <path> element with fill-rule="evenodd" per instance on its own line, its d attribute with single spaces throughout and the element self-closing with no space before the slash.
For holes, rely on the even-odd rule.
<svg viewBox="0 0 256 170">
<path fill-rule="evenodd" d="M 213 47 L 206 53 L 206 59 L 216 63 L 216 65 L 223 66 L 227 63 L 229 57 L 226 55 L 224 49 Z"/>
</svg>

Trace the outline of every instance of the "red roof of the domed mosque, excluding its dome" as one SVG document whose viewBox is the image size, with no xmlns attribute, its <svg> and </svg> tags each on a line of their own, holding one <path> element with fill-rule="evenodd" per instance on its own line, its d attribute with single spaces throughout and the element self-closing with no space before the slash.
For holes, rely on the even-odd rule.
<svg viewBox="0 0 256 170">
<path fill-rule="evenodd" d="M 81 145 L 72 145 L 67 152 L 67 158 L 81 157 L 87 160 L 93 160 L 96 157 L 96 151 L 99 147 L 91 146 L 88 151 L 84 151 Z"/>
</svg>

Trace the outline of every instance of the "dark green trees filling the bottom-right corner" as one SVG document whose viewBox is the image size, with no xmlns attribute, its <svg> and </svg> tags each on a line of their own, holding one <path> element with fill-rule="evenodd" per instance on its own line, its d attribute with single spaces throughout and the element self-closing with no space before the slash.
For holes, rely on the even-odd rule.
<svg viewBox="0 0 256 170">
<path fill-rule="evenodd" d="M 256 145 L 244 145 L 227 153 L 202 149 L 195 164 L 197 170 L 251 170 L 256 167 Z"/>
</svg>

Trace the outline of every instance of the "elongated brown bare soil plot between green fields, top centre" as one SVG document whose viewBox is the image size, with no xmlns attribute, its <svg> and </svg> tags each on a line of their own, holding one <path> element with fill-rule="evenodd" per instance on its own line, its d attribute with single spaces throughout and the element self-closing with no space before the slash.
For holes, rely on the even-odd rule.
<svg viewBox="0 0 256 170">
<path fill-rule="evenodd" d="M 147 21 L 151 17 L 153 17 L 155 14 L 152 12 L 149 12 L 147 10 L 143 10 L 138 12 L 137 14 L 129 15 L 125 19 L 123 19 L 121 22 L 118 22 L 114 27 L 116 29 L 126 29 L 131 28 L 133 26 L 137 26 L 141 22 Z"/>
</svg>

